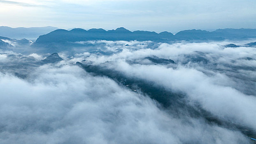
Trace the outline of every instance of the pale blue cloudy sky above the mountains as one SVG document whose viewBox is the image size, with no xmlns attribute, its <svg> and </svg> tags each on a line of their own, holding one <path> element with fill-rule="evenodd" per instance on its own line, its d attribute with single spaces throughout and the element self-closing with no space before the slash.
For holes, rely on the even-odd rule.
<svg viewBox="0 0 256 144">
<path fill-rule="evenodd" d="M 13 28 L 256 28 L 255 0 L 0 0 L 0 7 L 0 26 Z"/>
</svg>

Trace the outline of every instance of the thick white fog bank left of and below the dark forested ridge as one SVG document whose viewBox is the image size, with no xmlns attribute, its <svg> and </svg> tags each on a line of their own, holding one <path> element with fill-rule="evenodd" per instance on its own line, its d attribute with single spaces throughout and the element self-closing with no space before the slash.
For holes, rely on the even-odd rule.
<svg viewBox="0 0 256 144">
<path fill-rule="evenodd" d="M 246 143 L 239 132 L 172 118 L 156 102 L 77 66 L 0 75 L 1 143 Z"/>
</svg>

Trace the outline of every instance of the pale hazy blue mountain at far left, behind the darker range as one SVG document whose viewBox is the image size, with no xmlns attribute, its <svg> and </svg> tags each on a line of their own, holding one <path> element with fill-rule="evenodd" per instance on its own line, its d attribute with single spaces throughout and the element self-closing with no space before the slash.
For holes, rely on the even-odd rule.
<svg viewBox="0 0 256 144">
<path fill-rule="evenodd" d="M 12 39 L 37 39 L 40 35 L 50 33 L 57 29 L 58 28 L 51 26 L 33 28 L 10 28 L 7 26 L 0 26 L 0 36 Z"/>
</svg>

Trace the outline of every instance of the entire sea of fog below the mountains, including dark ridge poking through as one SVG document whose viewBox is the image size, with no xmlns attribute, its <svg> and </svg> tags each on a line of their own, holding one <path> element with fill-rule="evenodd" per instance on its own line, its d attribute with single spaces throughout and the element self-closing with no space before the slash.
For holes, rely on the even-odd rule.
<svg viewBox="0 0 256 144">
<path fill-rule="evenodd" d="M 246 43 L 88 41 L 53 55 L 2 50 L 0 143 L 252 143 L 256 48 Z"/>
</svg>

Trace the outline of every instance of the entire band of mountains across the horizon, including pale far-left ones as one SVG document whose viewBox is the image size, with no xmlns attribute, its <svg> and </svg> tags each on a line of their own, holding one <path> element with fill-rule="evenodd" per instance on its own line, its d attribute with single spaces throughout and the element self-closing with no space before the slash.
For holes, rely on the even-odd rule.
<svg viewBox="0 0 256 144">
<path fill-rule="evenodd" d="M 5 30 L 3 30 L 5 29 Z M 43 28 L 9 28 L 0 27 L 0 49 L 2 50 L 12 50 L 16 47 L 31 46 L 31 50 L 40 50 L 47 52 L 59 52 L 59 51 L 70 51 L 72 48 L 84 48 L 86 51 L 95 51 L 97 46 L 95 44 L 84 44 L 81 41 L 91 41 L 91 40 L 108 40 L 108 41 L 153 41 L 153 42 L 208 42 L 208 41 L 221 41 L 225 39 L 230 40 L 245 40 L 245 39 L 256 39 L 256 29 L 218 29 L 212 32 L 206 30 L 183 30 L 179 33 L 173 35 L 169 32 L 149 32 L 149 31 L 133 31 L 127 30 L 125 28 L 117 28 L 116 30 L 104 30 L 104 29 L 90 29 L 84 30 L 81 28 L 74 28 L 72 30 L 57 29 L 51 31 L 51 29 L 57 29 L 54 27 L 43 27 Z M 2 30 L 2 31 L 1 31 Z M 4 33 L 2 33 L 4 31 Z M 47 31 L 51 31 L 47 33 Z M 36 41 L 32 42 L 28 39 L 12 39 L 12 37 L 6 37 L 6 35 L 18 35 L 20 37 L 25 37 L 30 35 L 30 37 L 36 37 L 40 33 L 47 33 L 45 35 L 40 35 Z M 6 34 L 6 35 L 3 35 Z M 33 35 L 33 36 L 32 36 Z M 126 45 L 129 46 L 129 45 Z M 252 42 L 243 46 L 255 47 L 256 43 Z M 239 45 L 228 44 L 226 47 L 239 47 Z M 39 49 L 33 49 L 39 48 Z M 42 49 L 40 49 L 42 48 Z M 95 51 L 97 53 L 105 53 L 104 51 Z"/>
</svg>

